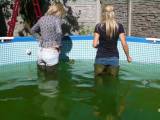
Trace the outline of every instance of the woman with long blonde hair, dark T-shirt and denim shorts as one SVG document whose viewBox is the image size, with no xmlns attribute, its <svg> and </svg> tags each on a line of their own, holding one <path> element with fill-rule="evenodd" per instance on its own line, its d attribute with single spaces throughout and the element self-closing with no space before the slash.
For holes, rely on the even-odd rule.
<svg viewBox="0 0 160 120">
<path fill-rule="evenodd" d="M 123 25 L 116 21 L 113 6 L 107 5 L 102 10 L 102 22 L 96 25 L 94 31 L 93 47 L 97 48 L 95 75 L 104 73 L 113 77 L 118 76 L 118 38 L 121 40 L 127 61 L 131 62 Z"/>
</svg>

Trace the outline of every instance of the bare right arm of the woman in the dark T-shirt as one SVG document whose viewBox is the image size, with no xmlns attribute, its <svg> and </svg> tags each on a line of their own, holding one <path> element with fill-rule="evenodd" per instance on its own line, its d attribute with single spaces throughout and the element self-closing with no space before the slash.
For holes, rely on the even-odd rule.
<svg viewBox="0 0 160 120">
<path fill-rule="evenodd" d="M 127 61 L 128 62 L 131 62 L 132 61 L 132 58 L 130 57 L 129 55 L 129 48 L 128 48 L 128 44 L 126 42 L 126 36 L 125 36 L 125 33 L 121 33 L 119 35 L 120 37 L 120 40 L 121 40 L 121 44 L 123 46 L 123 50 L 124 50 L 124 53 L 126 54 L 126 57 L 127 57 Z"/>
</svg>

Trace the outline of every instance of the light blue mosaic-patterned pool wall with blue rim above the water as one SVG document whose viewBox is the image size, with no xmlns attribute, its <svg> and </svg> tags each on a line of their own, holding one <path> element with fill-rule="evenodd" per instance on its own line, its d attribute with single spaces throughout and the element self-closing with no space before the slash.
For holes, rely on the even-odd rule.
<svg viewBox="0 0 160 120">
<path fill-rule="evenodd" d="M 65 36 L 62 42 L 61 59 L 94 60 L 96 49 L 92 47 L 93 36 Z M 130 55 L 135 62 L 160 63 L 160 42 L 140 37 L 127 37 Z M 33 37 L 15 37 L 9 42 L 0 42 L 0 65 L 36 61 L 38 42 Z M 126 60 L 118 41 L 120 60 Z M 31 51 L 31 55 L 27 52 Z"/>
</svg>

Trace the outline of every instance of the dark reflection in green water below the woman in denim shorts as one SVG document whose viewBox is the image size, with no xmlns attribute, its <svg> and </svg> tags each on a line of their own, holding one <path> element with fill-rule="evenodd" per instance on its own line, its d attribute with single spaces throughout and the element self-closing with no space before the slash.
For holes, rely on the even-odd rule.
<svg viewBox="0 0 160 120">
<path fill-rule="evenodd" d="M 120 120 L 119 80 L 108 76 L 95 78 L 95 114 L 103 120 Z M 124 108 L 122 106 L 121 108 Z"/>
</svg>

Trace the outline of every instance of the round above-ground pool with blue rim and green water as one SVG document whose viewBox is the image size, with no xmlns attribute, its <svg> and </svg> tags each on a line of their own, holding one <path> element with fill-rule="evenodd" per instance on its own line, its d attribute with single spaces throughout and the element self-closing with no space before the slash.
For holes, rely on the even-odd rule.
<svg viewBox="0 0 160 120">
<path fill-rule="evenodd" d="M 117 79 L 94 77 L 92 36 L 65 37 L 52 73 L 37 69 L 34 38 L 1 42 L 1 119 L 160 120 L 160 43 L 138 37 L 127 41 L 133 62 L 127 63 L 119 42 Z"/>
</svg>

